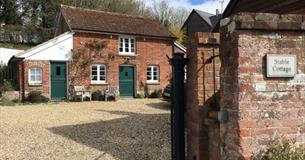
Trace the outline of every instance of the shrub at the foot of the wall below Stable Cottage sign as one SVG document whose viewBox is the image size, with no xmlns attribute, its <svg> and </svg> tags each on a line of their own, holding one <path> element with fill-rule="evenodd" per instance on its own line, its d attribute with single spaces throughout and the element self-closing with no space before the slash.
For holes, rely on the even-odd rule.
<svg viewBox="0 0 305 160">
<path fill-rule="evenodd" d="M 294 147 L 288 140 L 271 143 L 267 150 L 255 155 L 252 160 L 305 160 L 305 149 Z"/>
</svg>

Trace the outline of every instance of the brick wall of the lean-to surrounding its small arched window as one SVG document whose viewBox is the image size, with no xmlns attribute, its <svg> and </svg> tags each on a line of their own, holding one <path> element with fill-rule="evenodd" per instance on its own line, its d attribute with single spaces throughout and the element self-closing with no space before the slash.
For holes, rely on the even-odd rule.
<svg viewBox="0 0 305 160">
<path fill-rule="evenodd" d="M 27 94 L 31 91 L 41 91 L 44 96 L 50 97 L 50 62 L 49 61 L 22 61 L 18 64 L 18 67 L 19 67 L 21 94 L 24 93 L 24 96 L 26 97 Z M 41 85 L 29 84 L 29 69 L 31 67 L 38 67 L 42 69 L 43 77 L 42 77 Z M 22 73 L 22 70 L 24 70 L 24 74 Z M 21 97 L 23 96 L 21 95 Z"/>
</svg>

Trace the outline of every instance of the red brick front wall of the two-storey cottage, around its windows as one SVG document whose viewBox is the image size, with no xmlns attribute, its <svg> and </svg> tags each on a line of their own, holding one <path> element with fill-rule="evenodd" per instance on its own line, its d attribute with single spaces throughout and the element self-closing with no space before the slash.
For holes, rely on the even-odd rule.
<svg viewBox="0 0 305 160">
<path fill-rule="evenodd" d="M 90 40 L 106 40 L 108 45 L 101 52 L 112 53 L 115 55 L 113 60 L 105 61 L 103 58 L 94 58 L 94 63 L 106 64 L 107 66 L 107 84 L 93 85 L 90 76 L 76 81 L 77 85 L 85 85 L 88 89 L 105 90 L 107 85 L 119 85 L 119 66 L 126 62 L 126 56 L 120 56 L 118 50 L 119 37 L 116 35 L 75 33 L 73 49 L 84 48 L 84 44 Z M 148 84 L 150 90 L 163 89 L 170 80 L 171 68 L 166 55 L 170 56 L 173 52 L 173 44 L 170 40 L 136 38 L 136 55 L 131 56 L 130 63 L 135 66 L 136 70 L 136 91 L 143 92 L 141 83 L 146 83 L 146 74 L 148 65 L 158 65 L 160 67 L 160 83 Z M 72 72 L 72 71 L 70 71 Z M 90 72 L 90 67 L 88 67 Z"/>
</svg>

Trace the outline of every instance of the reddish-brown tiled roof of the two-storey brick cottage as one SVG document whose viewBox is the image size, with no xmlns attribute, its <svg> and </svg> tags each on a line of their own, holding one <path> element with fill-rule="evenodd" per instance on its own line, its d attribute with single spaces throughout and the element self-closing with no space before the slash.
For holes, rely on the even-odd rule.
<svg viewBox="0 0 305 160">
<path fill-rule="evenodd" d="M 82 31 L 175 38 L 157 20 L 126 14 L 61 6 L 70 28 Z"/>
</svg>

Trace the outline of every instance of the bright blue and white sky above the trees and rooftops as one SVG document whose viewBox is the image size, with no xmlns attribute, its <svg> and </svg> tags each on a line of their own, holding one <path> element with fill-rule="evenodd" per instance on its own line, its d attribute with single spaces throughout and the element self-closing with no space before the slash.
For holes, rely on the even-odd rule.
<svg viewBox="0 0 305 160">
<path fill-rule="evenodd" d="M 153 0 L 143 0 L 147 5 L 151 5 Z M 156 0 L 161 1 L 161 0 Z M 173 7 L 185 7 L 187 9 L 199 9 L 209 13 L 216 13 L 216 9 L 221 10 L 220 0 L 166 0 Z M 230 0 L 224 0 L 223 9 Z"/>
</svg>

